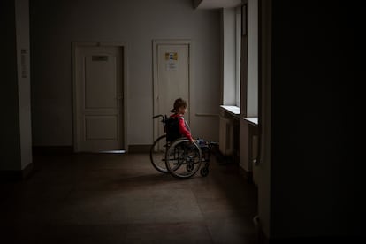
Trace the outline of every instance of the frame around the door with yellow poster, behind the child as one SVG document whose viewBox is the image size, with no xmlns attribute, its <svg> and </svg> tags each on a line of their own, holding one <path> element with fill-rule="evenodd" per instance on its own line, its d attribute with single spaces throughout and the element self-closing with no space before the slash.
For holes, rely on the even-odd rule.
<svg viewBox="0 0 366 244">
<path fill-rule="evenodd" d="M 193 78 L 193 62 L 192 62 L 192 54 L 193 54 L 193 44 L 192 41 L 189 39 L 156 39 L 153 40 L 152 42 L 153 45 L 153 116 L 156 115 L 157 111 L 158 111 L 158 99 L 159 99 L 159 94 L 158 94 L 158 77 L 157 77 L 157 73 L 158 73 L 158 68 L 157 68 L 157 64 L 158 64 L 158 57 L 157 57 L 157 46 L 158 45 L 187 45 L 188 46 L 188 101 L 187 103 L 190 104 L 191 101 L 191 87 L 192 87 L 192 78 Z M 191 117 L 191 112 L 190 110 L 187 111 L 188 112 L 188 117 Z M 189 121 L 188 121 L 189 122 Z M 158 134 L 158 126 L 160 125 L 160 120 L 158 119 L 154 119 L 154 128 L 153 128 L 153 138 L 154 140 L 157 138 Z"/>
</svg>

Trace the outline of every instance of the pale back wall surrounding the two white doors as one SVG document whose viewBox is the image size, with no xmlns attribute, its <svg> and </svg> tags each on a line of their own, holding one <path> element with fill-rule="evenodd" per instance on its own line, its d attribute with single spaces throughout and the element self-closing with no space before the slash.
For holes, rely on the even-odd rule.
<svg viewBox="0 0 366 244">
<path fill-rule="evenodd" d="M 152 40 L 193 42 L 191 128 L 217 141 L 219 11 L 194 10 L 191 0 L 42 1 L 31 12 L 34 146 L 71 146 L 72 42 L 126 42 L 127 145 L 153 141 Z"/>
</svg>

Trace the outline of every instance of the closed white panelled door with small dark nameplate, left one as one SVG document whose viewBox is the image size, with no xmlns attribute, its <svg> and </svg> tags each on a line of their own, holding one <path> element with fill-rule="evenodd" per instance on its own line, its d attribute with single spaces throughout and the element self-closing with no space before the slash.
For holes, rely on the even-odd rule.
<svg viewBox="0 0 366 244">
<path fill-rule="evenodd" d="M 75 151 L 124 149 L 123 48 L 77 46 L 74 51 Z"/>
</svg>

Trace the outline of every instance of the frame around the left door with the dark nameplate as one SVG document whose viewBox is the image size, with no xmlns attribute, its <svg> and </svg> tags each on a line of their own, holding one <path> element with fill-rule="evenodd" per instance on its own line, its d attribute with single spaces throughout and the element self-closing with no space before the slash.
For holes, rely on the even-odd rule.
<svg viewBox="0 0 366 244">
<path fill-rule="evenodd" d="M 123 88 L 123 97 L 122 97 L 122 106 L 121 109 L 123 111 L 123 137 L 121 137 L 121 142 L 124 145 L 124 150 L 127 151 L 128 145 L 127 145 L 127 84 L 128 84 L 128 69 L 127 69 L 127 44 L 126 42 L 72 42 L 72 132 L 73 132 L 73 151 L 78 152 L 79 151 L 79 144 L 78 144 L 78 138 L 79 138 L 79 131 L 78 131 L 78 104 L 77 104 L 77 95 L 78 95 L 78 88 L 77 88 L 77 58 L 78 58 L 78 50 L 80 48 L 87 47 L 117 47 L 123 50 L 122 52 L 122 60 L 121 62 L 122 66 L 119 67 L 122 69 L 122 80 L 121 80 L 121 86 Z"/>
</svg>

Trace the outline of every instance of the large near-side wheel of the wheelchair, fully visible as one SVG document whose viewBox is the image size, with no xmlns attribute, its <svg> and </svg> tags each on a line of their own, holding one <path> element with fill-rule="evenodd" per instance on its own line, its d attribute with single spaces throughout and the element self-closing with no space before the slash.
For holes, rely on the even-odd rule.
<svg viewBox="0 0 366 244">
<path fill-rule="evenodd" d="M 196 143 L 190 143 L 186 138 L 173 141 L 166 151 L 165 165 L 172 176 L 187 179 L 193 176 L 201 167 L 202 153 Z"/>
</svg>

